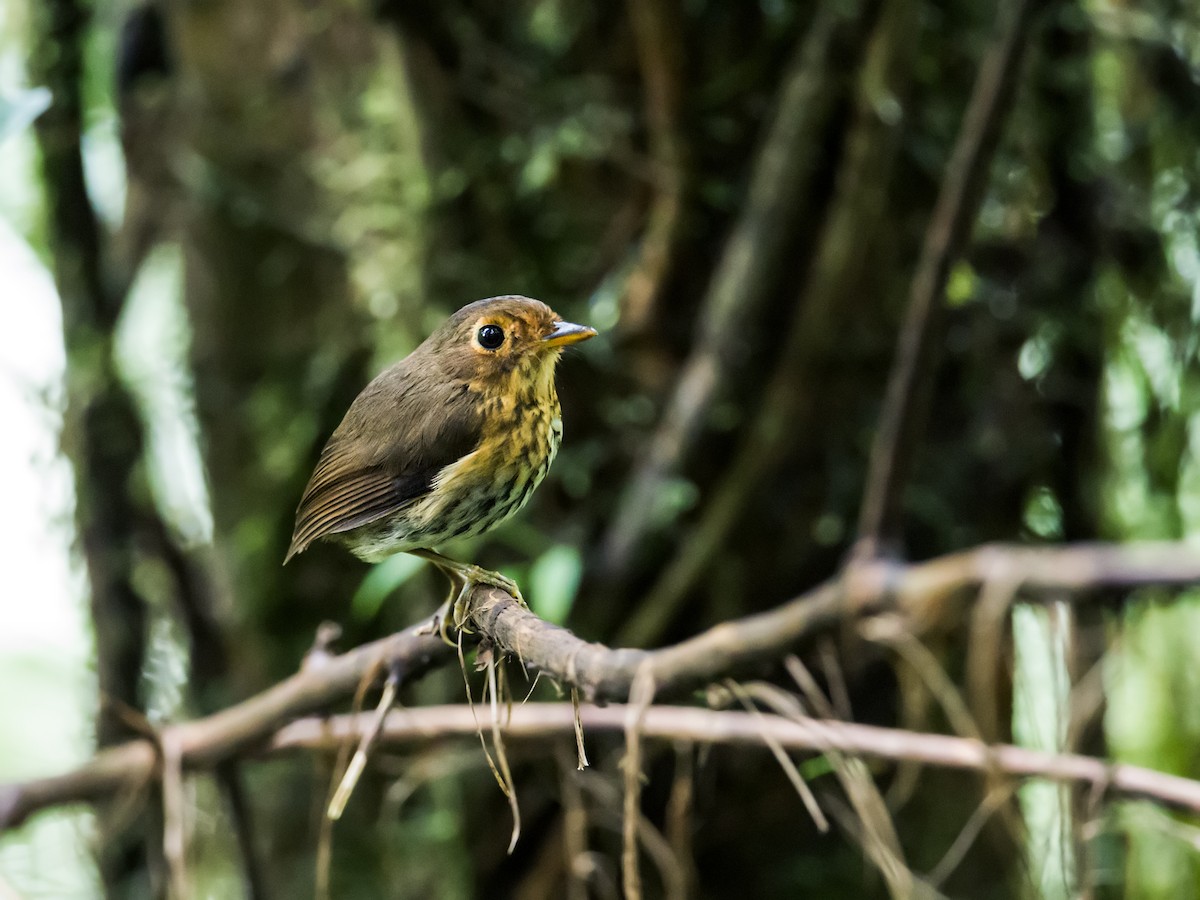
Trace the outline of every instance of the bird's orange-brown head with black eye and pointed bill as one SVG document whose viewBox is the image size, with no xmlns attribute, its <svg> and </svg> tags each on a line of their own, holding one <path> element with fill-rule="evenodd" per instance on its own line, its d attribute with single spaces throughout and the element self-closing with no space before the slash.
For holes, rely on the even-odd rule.
<svg viewBox="0 0 1200 900">
<path fill-rule="evenodd" d="M 427 343 L 464 380 L 548 390 L 563 348 L 595 334 L 564 322 L 540 300 L 511 295 L 468 304 Z"/>
</svg>

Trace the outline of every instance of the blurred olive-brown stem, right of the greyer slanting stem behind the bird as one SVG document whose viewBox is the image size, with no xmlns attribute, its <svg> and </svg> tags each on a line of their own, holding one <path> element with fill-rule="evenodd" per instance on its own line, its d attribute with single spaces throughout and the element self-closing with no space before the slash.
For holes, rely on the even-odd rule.
<svg viewBox="0 0 1200 900">
<path fill-rule="evenodd" d="M 881 115 L 881 96 L 902 109 L 916 58 L 916 10 L 906 0 L 883 5 L 866 42 L 854 88 L 854 114 L 833 167 L 834 190 L 814 241 L 806 272 L 786 319 L 779 360 L 754 415 L 739 430 L 737 451 L 707 492 L 700 521 L 655 578 L 646 600 L 622 623 L 617 640 L 635 647 L 661 641 L 728 541 L 755 487 L 796 451 L 797 436 L 816 428 L 822 373 L 845 353 L 846 322 L 874 314 L 864 298 L 877 295 L 883 276 L 864 280 L 877 257 L 876 236 L 888 221 L 887 187 L 900 148 L 902 116 Z M 738 326 L 731 325 L 734 331 Z"/>
</svg>

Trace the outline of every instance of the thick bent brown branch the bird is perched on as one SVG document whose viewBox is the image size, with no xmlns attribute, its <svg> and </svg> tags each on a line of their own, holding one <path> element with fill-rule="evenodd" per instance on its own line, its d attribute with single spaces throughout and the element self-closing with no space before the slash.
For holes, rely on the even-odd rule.
<svg viewBox="0 0 1200 900">
<path fill-rule="evenodd" d="M 722 623 L 659 650 L 588 643 L 539 619 L 494 588 L 476 592 L 472 620 L 476 632 L 502 650 L 516 654 L 520 649 L 529 670 L 578 688 L 590 701 L 616 701 L 629 696 L 642 666 L 654 679 L 656 696 L 678 695 L 740 668 L 778 660 L 803 641 L 881 612 L 906 617 L 914 634 L 944 628 L 962 617 L 982 584 L 1012 582 L 1016 574 L 1021 575 L 1022 596 L 1028 599 L 1045 594 L 1057 600 L 1064 593 L 1098 588 L 1184 587 L 1200 583 L 1200 553 L 1183 542 L 989 545 L 908 565 L 871 560 L 775 610 Z M 451 648 L 431 631 L 432 620 L 427 619 L 340 656 L 314 654 L 299 673 L 263 694 L 214 715 L 167 726 L 163 732 L 170 732 L 176 742 L 185 770 L 245 755 L 262 748 L 284 722 L 349 696 L 364 673 L 380 661 L 397 667 L 408 680 L 454 659 Z M 134 740 L 97 754 L 74 772 L 0 786 L 0 830 L 48 806 L 136 788 L 156 776 L 156 767 L 154 744 Z"/>
</svg>

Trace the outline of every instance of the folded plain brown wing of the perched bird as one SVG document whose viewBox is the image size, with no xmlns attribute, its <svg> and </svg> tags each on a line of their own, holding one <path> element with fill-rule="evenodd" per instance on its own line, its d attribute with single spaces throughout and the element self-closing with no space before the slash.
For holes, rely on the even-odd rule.
<svg viewBox="0 0 1200 900">
<path fill-rule="evenodd" d="M 403 364 L 384 372 L 325 444 L 283 562 L 318 538 L 384 518 L 424 497 L 437 474 L 472 452 L 480 437 L 463 383 L 412 376 Z"/>
</svg>

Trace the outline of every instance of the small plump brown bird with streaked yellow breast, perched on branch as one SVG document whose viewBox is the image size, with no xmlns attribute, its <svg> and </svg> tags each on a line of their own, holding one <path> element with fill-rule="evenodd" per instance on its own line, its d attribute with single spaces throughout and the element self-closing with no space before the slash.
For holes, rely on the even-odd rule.
<svg viewBox="0 0 1200 900">
<path fill-rule="evenodd" d="M 595 335 L 528 296 L 463 306 L 350 403 L 300 498 L 284 564 L 318 539 L 370 563 L 427 559 L 450 580 L 443 638 L 450 619 L 463 630 L 476 586 L 524 604 L 511 578 L 434 547 L 526 505 L 563 437 L 558 360 Z"/>
</svg>

